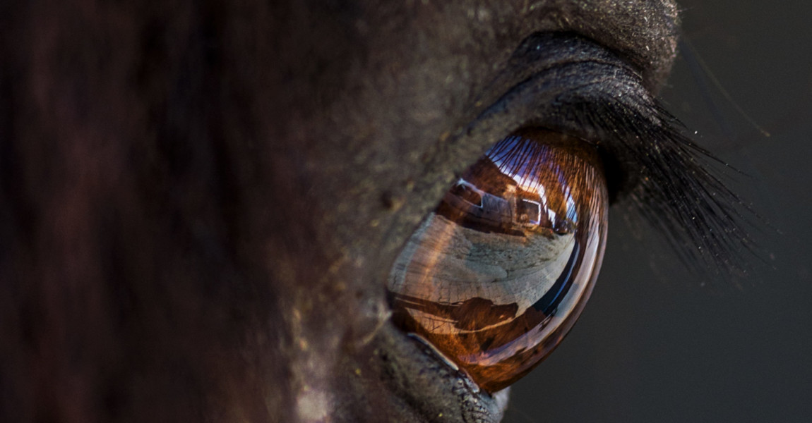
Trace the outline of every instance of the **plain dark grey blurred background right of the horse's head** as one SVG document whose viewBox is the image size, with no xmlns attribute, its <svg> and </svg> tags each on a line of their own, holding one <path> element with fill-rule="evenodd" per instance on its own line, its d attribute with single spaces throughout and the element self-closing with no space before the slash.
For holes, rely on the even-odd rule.
<svg viewBox="0 0 812 423">
<path fill-rule="evenodd" d="M 741 289 L 702 287 L 656 233 L 633 235 L 613 211 L 590 304 L 514 385 L 508 422 L 812 421 L 812 4 L 680 4 L 685 38 L 771 136 L 698 83 L 684 58 L 663 100 L 703 146 L 750 175 L 733 186 L 768 221 L 750 232 L 771 262 Z"/>
</svg>

